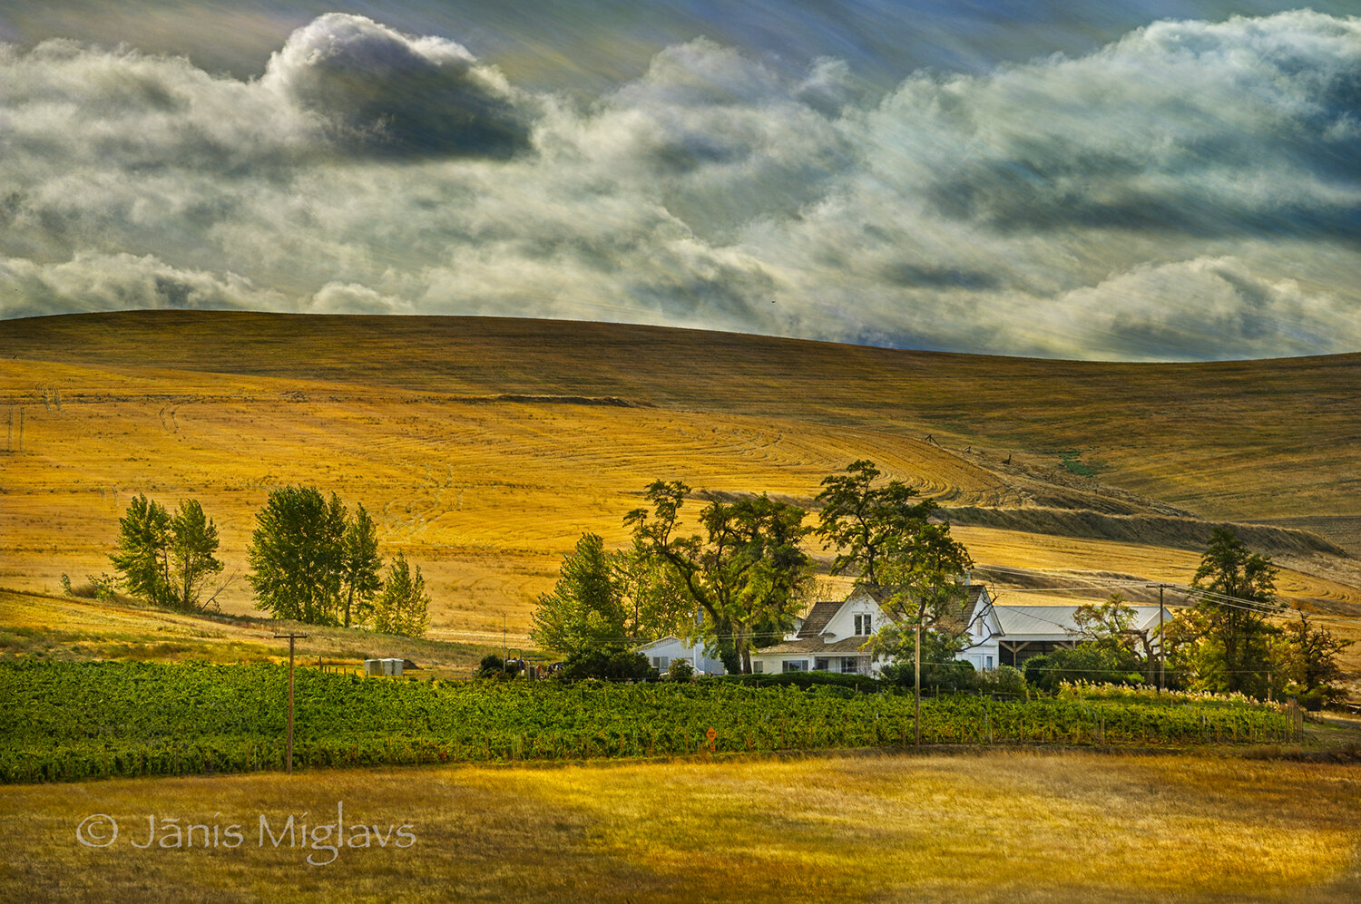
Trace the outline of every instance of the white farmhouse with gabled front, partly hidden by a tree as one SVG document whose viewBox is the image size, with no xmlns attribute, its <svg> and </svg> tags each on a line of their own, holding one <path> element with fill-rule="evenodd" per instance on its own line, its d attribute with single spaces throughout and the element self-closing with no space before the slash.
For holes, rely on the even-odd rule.
<svg viewBox="0 0 1361 904">
<path fill-rule="evenodd" d="M 966 631 L 966 646 L 955 657 L 973 667 L 998 665 L 998 635 L 1002 633 L 994 613 L 992 598 L 983 585 L 969 585 L 968 597 L 958 612 L 946 614 L 954 629 Z M 753 672 L 842 672 L 878 676 L 887 659 L 875 658 L 863 648 L 871 635 L 887 623 L 881 601 L 887 593 L 878 587 L 856 587 L 841 602 L 814 604 L 803 624 L 783 643 L 751 653 Z"/>
</svg>

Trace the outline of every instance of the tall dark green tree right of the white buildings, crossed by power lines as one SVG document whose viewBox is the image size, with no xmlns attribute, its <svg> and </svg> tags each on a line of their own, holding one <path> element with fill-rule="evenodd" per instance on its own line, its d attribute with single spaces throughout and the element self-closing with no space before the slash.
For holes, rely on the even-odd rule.
<svg viewBox="0 0 1361 904">
<path fill-rule="evenodd" d="M 1277 631 L 1267 617 L 1275 602 L 1277 570 L 1249 552 L 1232 527 L 1215 527 L 1191 586 L 1200 591 L 1196 610 L 1204 633 L 1198 650 L 1198 685 L 1204 691 L 1264 696 L 1268 642 Z"/>
</svg>

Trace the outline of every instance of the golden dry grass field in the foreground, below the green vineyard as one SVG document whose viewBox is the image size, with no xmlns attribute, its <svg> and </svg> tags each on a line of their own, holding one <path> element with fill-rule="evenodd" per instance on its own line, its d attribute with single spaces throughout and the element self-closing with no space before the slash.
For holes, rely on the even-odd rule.
<svg viewBox="0 0 1361 904">
<path fill-rule="evenodd" d="M 249 828 L 235 851 L 75 840 L 91 813 L 140 840 L 148 814 L 336 801 L 416 844 L 308 866 Z M 1354 767 L 1022 752 L 112 780 L 0 788 L 0 869 L 71 901 L 1354 900 L 1358 802 Z"/>
</svg>

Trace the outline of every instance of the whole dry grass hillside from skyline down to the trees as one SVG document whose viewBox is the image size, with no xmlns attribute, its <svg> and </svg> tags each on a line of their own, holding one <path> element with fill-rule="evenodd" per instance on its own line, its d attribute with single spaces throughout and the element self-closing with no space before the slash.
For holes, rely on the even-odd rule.
<svg viewBox="0 0 1361 904">
<path fill-rule="evenodd" d="M 219 601 L 249 613 L 253 514 L 301 483 L 363 503 L 384 549 L 422 566 L 434 636 L 495 643 L 506 625 L 523 642 L 561 555 L 583 530 L 625 542 L 622 515 L 653 479 L 807 502 L 853 458 L 1040 530 L 1048 510 L 1135 527 L 1290 518 L 1347 545 L 1358 364 L 1037 362 L 487 318 L 8 321 L 0 586 L 59 593 L 61 574 L 108 571 L 133 495 L 192 496 L 235 576 Z M 1196 560 L 1151 529 L 1138 542 L 957 532 L 989 564 L 1184 582 Z M 1277 552 L 1288 595 L 1342 625 L 1361 613 L 1354 561 Z"/>
</svg>

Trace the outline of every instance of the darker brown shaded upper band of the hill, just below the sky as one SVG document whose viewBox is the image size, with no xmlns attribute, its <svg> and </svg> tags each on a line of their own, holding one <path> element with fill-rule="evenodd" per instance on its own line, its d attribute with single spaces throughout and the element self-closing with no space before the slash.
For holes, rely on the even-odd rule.
<svg viewBox="0 0 1361 904">
<path fill-rule="evenodd" d="M 992 462 L 1015 453 L 1052 465 L 1075 450 L 1119 485 L 1204 517 L 1361 515 L 1357 355 L 1108 364 L 474 317 L 155 311 L 5 326 L 4 356 L 464 396 L 617 396 L 848 434 L 931 432 L 955 450 L 981 446 Z"/>
</svg>

